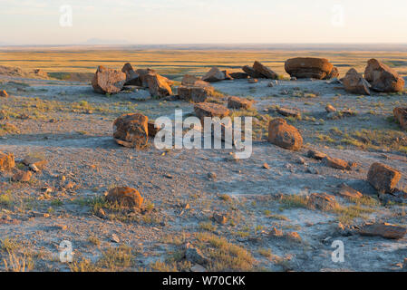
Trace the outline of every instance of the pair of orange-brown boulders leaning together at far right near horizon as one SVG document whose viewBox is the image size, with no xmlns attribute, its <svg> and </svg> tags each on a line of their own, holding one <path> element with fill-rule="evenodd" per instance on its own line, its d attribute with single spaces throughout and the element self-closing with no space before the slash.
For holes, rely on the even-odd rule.
<svg viewBox="0 0 407 290">
<path fill-rule="evenodd" d="M 357 94 L 370 95 L 371 90 L 375 92 L 402 92 L 404 90 L 404 79 L 399 73 L 376 59 L 367 62 L 364 78 L 361 73 L 357 73 L 352 68 L 341 81 L 347 92 Z"/>
</svg>

